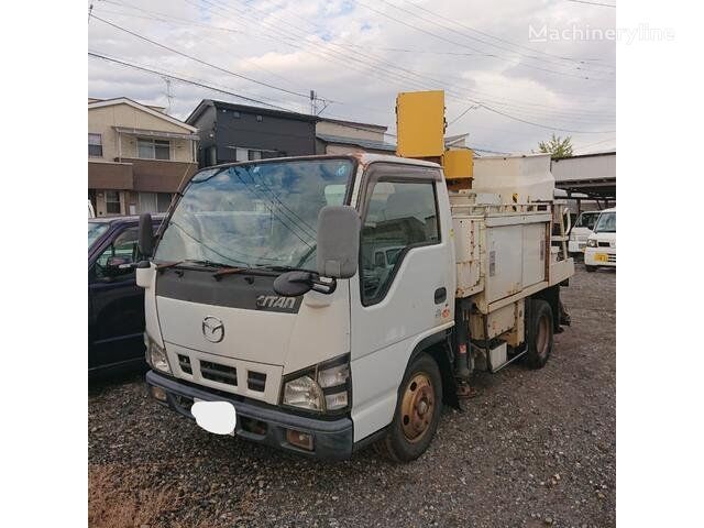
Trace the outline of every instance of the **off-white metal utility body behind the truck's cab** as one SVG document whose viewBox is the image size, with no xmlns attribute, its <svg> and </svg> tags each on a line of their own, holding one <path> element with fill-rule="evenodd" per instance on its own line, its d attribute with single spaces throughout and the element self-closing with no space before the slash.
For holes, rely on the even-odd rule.
<svg viewBox="0 0 704 528">
<path fill-rule="evenodd" d="M 549 164 L 549 156 L 476 160 L 476 185 L 450 194 L 455 298 L 471 302 L 469 334 L 486 352 L 496 338 L 519 348 L 525 342 L 525 299 L 574 274 L 566 235 L 560 233 L 564 211 L 552 198 Z M 506 361 L 505 355 L 495 358 L 488 370 Z"/>
</svg>

